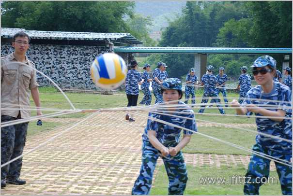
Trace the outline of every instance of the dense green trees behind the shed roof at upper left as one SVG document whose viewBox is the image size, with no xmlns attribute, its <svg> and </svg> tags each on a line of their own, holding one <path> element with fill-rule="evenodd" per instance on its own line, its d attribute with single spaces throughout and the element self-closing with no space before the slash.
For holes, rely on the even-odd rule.
<svg viewBox="0 0 293 196">
<path fill-rule="evenodd" d="M 2 27 L 28 30 L 127 32 L 133 1 L 4 1 Z"/>
</svg>

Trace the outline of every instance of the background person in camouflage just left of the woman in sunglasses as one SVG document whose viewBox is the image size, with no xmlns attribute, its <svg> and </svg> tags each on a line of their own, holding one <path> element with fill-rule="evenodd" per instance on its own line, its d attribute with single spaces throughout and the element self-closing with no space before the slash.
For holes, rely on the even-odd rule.
<svg viewBox="0 0 293 196">
<path fill-rule="evenodd" d="M 239 103 L 241 104 L 243 99 L 245 98 L 247 92 L 251 88 L 251 78 L 250 76 L 246 73 L 247 72 L 247 67 L 242 66 L 241 67 L 241 75 L 239 77 L 239 83 L 237 86 L 237 89 L 240 89 L 239 91 Z"/>
</svg>

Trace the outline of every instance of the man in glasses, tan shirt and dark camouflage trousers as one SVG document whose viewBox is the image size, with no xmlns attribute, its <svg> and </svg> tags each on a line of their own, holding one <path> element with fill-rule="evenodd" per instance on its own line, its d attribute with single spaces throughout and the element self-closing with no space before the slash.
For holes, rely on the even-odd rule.
<svg viewBox="0 0 293 196">
<path fill-rule="evenodd" d="M 27 58 L 30 37 L 18 32 L 13 37 L 15 51 L 1 57 L 1 123 L 20 118 L 29 118 L 30 92 L 37 107 L 37 115 L 42 115 L 39 90 L 34 64 Z M 23 65 L 21 63 L 26 65 Z M 28 122 L 1 128 L 1 165 L 19 156 L 23 152 L 27 137 Z M 6 183 L 25 184 L 20 180 L 22 158 L 1 167 L 1 188 Z"/>
</svg>

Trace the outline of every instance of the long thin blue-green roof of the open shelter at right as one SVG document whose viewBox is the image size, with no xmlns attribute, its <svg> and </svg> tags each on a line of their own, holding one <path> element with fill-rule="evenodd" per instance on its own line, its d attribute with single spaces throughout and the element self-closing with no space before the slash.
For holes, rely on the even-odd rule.
<svg viewBox="0 0 293 196">
<path fill-rule="evenodd" d="M 292 48 L 119 47 L 114 48 L 114 52 L 185 54 L 292 54 Z"/>
</svg>

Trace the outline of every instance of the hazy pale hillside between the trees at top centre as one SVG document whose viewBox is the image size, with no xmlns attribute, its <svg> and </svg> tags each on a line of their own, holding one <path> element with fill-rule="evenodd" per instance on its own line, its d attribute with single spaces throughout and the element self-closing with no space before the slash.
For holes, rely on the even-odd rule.
<svg viewBox="0 0 293 196">
<path fill-rule="evenodd" d="M 186 1 L 135 1 L 135 3 L 135 13 L 151 16 L 154 19 L 154 26 L 151 27 L 151 32 L 154 32 L 168 27 L 168 20 L 172 21 L 181 15 Z"/>
</svg>

